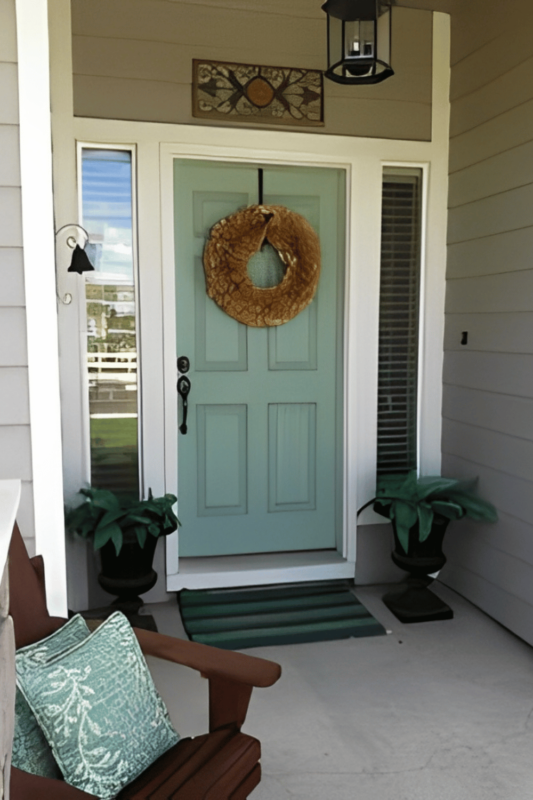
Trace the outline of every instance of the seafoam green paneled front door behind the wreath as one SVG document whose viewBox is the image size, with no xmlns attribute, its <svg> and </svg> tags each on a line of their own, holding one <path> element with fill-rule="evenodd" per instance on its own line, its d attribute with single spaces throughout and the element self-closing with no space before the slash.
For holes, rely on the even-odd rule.
<svg viewBox="0 0 533 800">
<path fill-rule="evenodd" d="M 191 385 L 178 434 L 180 558 L 334 549 L 340 538 L 345 173 L 263 168 L 263 202 L 311 223 L 322 271 L 297 317 L 249 328 L 207 296 L 202 253 L 216 222 L 258 202 L 258 172 L 174 161 L 177 354 Z M 249 264 L 262 287 L 282 269 L 275 251 Z M 178 426 L 181 401 L 179 415 Z"/>
</svg>

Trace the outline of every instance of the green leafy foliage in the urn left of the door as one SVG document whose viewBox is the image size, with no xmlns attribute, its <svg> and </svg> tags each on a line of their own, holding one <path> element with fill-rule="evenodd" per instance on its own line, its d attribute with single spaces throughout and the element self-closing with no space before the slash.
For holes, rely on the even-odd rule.
<svg viewBox="0 0 533 800">
<path fill-rule="evenodd" d="M 80 489 L 86 500 L 76 508 L 66 510 L 67 529 L 85 539 L 92 538 L 95 550 L 109 541 L 115 545 L 118 556 L 124 542 L 125 531 L 132 531 L 141 547 L 148 534 L 168 536 L 181 525 L 173 511 L 177 497 L 165 494 L 154 497 L 148 490 L 147 500 L 121 500 L 108 489 Z"/>
</svg>

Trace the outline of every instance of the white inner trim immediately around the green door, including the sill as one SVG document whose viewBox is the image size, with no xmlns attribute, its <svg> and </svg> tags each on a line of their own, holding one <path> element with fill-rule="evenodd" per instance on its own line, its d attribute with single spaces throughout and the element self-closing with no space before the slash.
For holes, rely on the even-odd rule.
<svg viewBox="0 0 533 800">
<path fill-rule="evenodd" d="M 339 161 L 337 158 L 326 157 L 322 154 L 307 152 L 302 157 L 295 158 L 294 151 L 265 151 L 253 147 L 253 142 L 247 141 L 248 132 L 243 132 L 242 143 L 232 147 L 216 147 L 214 143 L 209 147 L 185 144 L 161 145 L 161 224 L 163 242 L 163 320 L 165 330 L 165 428 L 166 428 L 166 475 L 167 485 L 178 486 L 178 431 L 176 420 L 178 418 L 178 400 L 176 393 L 176 310 L 175 310 L 175 249 L 174 249 L 174 187 L 173 187 L 173 162 L 174 159 L 190 158 L 202 161 L 222 161 L 234 164 L 261 164 L 265 167 L 273 166 L 313 166 L 323 168 L 342 169 L 346 172 L 346 255 L 345 255 L 345 298 L 350 291 L 350 264 L 353 263 L 353 254 L 350 236 L 350 205 L 352 199 L 351 161 Z M 234 137 L 235 138 L 235 137 Z M 379 239 L 380 218 L 376 217 L 374 237 Z M 371 234 L 372 235 L 372 234 Z M 379 251 L 378 251 L 379 259 Z M 378 261 L 379 264 L 379 261 Z M 348 341 L 351 337 L 351 328 L 354 325 L 352 303 L 345 300 L 344 313 L 344 435 L 343 435 L 343 519 L 342 519 L 342 553 L 332 554 L 329 551 L 303 552 L 303 553 L 276 553 L 269 555 L 249 555 L 213 558 L 186 558 L 179 559 L 179 532 L 167 540 L 167 589 L 176 591 L 184 586 L 246 585 L 267 582 L 282 582 L 294 580 L 316 580 L 337 577 L 353 577 L 355 571 L 355 524 L 350 527 L 350 522 L 355 523 L 356 495 L 346 499 L 347 466 L 354 448 L 354 430 L 349 429 L 350 410 L 347 405 L 353 401 L 353 393 L 347 390 L 350 364 L 353 361 L 346 356 Z M 179 498 L 178 498 L 179 508 Z M 179 513 L 179 510 L 178 510 Z M 352 535 L 350 535 L 352 531 Z M 175 565 L 175 566 L 173 566 Z M 266 575 L 269 578 L 267 579 Z M 301 577 L 295 577 L 298 574 Z M 214 583 L 215 582 L 215 583 Z"/>
</svg>

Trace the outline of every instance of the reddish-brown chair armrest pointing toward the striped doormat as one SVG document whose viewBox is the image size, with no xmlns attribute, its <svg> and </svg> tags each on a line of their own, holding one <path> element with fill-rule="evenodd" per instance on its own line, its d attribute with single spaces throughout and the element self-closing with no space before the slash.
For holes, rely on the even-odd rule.
<svg viewBox="0 0 533 800">
<path fill-rule="evenodd" d="M 244 683 L 247 686 L 272 686 L 281 675 L 281 667 L 265 658 L 221 650 L 206 644 L 188 642 L 162 633 L 134 628 L 145 655 L 174 661 L 196 669 L 206 678 Z"/>
</svg>

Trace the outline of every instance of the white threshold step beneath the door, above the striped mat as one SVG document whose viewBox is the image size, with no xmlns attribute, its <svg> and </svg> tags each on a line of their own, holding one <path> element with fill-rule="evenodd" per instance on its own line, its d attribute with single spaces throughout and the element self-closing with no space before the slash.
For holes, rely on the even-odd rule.
<svg viewBox="0 0 533 800">
<path fill-rule="evenodd" d="M 336 550 L 180 558 L 179 572 L 167 575 L 167 591 L 335 580 L 354 574 L 355 563 Z"/>
</svg>

